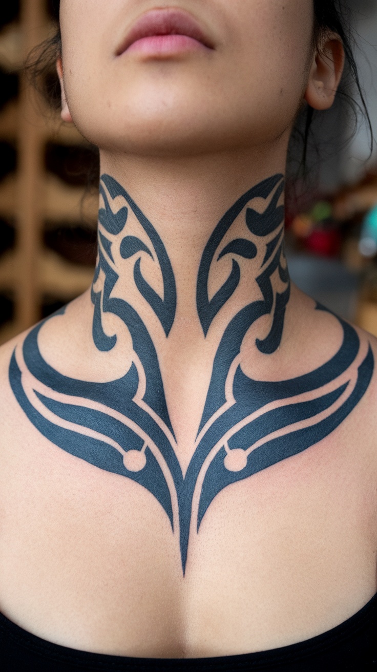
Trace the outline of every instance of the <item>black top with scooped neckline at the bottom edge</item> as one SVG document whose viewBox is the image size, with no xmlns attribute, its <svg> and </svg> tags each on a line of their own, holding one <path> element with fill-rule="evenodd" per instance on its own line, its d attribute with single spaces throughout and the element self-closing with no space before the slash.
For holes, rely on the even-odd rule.
<svg viewBox="0 0 377 672">
<path fill-rule="evenodd" d="M 377 594 L 347 621 L 305 642 L 246 655 L 184 660 L 85 653 L 46 642 L 0 614 L 0 666 L 3 672 L 377 671 Z"/>
</svg>

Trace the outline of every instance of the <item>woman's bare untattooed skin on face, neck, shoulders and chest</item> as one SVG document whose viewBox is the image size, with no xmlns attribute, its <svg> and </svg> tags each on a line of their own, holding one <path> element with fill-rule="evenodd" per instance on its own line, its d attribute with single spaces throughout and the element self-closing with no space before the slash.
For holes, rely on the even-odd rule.
<svg viewBox="0 0 377 672">
<path fill-rule="evenodd" d="M 201 313 L 197 289 L 206 245 L 237 199 L 263 180 L 284 174 L 296 110 L 304 98 L 313 107 L 331 106 L 343 59 L 333 35 L 323 40 L 322 55 L 312 52 L 309 1 L 208 0 L 163 7 L 194 16 L 210 50 L 172 51 L 163 58 L 137 50 L 116 56 L 136 19 L 155 5 L 76 0 L 72 7 L 62 0 L 58 69 L 65 87 L 62 117 L 73 118 L 98 144 L 101 173 L 127 190 L 163 241 L 177 299 L 175 308 L 167 310 L 169 328 L 164 331 L 165 318 L 153 308 L 153 300 L 148 302 L 135 288 L 134 241 L 128 240 L 122 254 L 126 232 L 146 247 L 150 240 L 140 233 L 131 206 L 128 228 L 109 233 L 109 222 L 126 201 L 111 198 L 105 186 L 111 212 L 108 219 L 101 216 L 106 205 L 102 195 L 99 232 L 112 243 L 113 261 L 100 240 L 101 273 L 92 293 L 85 292 L 64 315 L 47 321 L 38 347 L 56 372 L 98 384 L 124 376 L 132 362 L 139 362 L 132 329 L 103 307 L 103 269 L 116 269 L 111 296 L 132 305 L 151 336 L 175 437 L 171 445 L 185 474 L 196 455 L 216 353 L 239 311 L 261 300 L 256 279 L 264 263 L 263 245 L 274 231 L 256 235 L 251 225 L 247 230 L 245 209 L 235 219 L 224 238 L 233 252 L 221 260 L 216 253 L 208 298 L 226 282 L 233 260 L 241 269 L 239 284 L 205 333 L 210 308 Z M 254 198 L 249 204 L 254 212 L 265 212 L 278 184 L 264 200 Z M 281 195 L 276 207 L 282 204 Z M 255 245 L 254 257 L 251 251 L 249 257 L 235 252 L 234 241 L 240 239 L 243 250 Z M 140 269 L 165 300 L 156 249 L 152 255 L 140 252 Z M 289 284 L 284 251 L 279 259 L 280 276 L 276 267 L 270 278 L 274 306 Z M 102 303 L 96 324 L 102 331 L 98 327 L 93 337 L 97 295 Z M 248 380 L 297 379 L 341 348 L 337 318 L 315 310 L 314 302 L 292 287 L 282 312 L 282 333 L 263 351 L 257 343 L 271 332 L 274 306 L 247 328 L 237 353 Z M 375 339 L 357 333 L 358 353 L 342 372 L 343 382 L 355 377 L 369 347 L 377 356 Z M 114 335 L 110 348 L 106 344 Z M 341 623 L 376 593 L 372 365 L 365 390 L 333 431 L 313 438 L 302 452 L 276 458 L 267 468 L 219 488 L 199 530 L 192 515 L 183 543 L 181 505 L 173 496 L 172 530 L 152 486 L 142 487 L 70 454 L 68 439 L 67 446 L 59 447 L 30 419 L 9 373 L 15 351 L 29 398 L 32 386 L 40 384 L 38 389 L 46 392 L 42 378 L 35 382 L 25 339 L 26 334 L 13 339 L 0 355 L 0 610 L 5 616 L 42 638 L 97 653 L 207 657 L 310 638 Z M 149 369 L 140 366 L 138 372 L 148 382 Z M 48 396 L 56 401 L 59 394 L 53 390 Z M 41 409 L 35 398 L 33 404 Z M 163 413 L 153 417 L 161 425 Z M 136 423 L 132 414 L 128 420 Z M 55 419 L 54 427 L 58 423 Z M 287 420 L 284 427 L 288 425 Z M 89 435 L 87 427 L 83 435 Z M 226 431 L 227 426 L 224 436 Z M 235 455 L 231 448 L 229 455 Z M 127 464 L 127 456 L 125 460 Z M 169 474 L 167 482 L 173 495 L 178 492 Z M 194 493 L 192 511 L 200 506 L 200 488 L 204 491 L 204 485 L 195 491 L 198 501 Z"/>
</svg>

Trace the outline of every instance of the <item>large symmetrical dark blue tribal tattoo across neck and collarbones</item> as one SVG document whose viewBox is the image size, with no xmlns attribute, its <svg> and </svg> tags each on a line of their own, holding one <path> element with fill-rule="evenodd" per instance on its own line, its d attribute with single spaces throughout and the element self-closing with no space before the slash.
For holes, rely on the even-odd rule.
<svg viewBox="0 0 377 672">
<path fill-rule="evenodd" d="M 243 372 L 241 345 L 259 318 L 270 316 L 271 323 L 267 336 L 255 341 L 261 353 L 274 353 L 282 338 L 290 296 L 283 249 L 284 207 L 278 204 L 283 190 L 282 175 L 253 187 L 222 217 L 204 249 L 197 282 L 204 337 L 235 294 L 245 263 L 258 261 L 254 278 L 260 298 L 241 308 L 220 337 L 194 454 L 185 471 L 177 458 L 152 330 L 146 327 L 153 319 L 163 337 L 169 338 L 177 305 L 173 269 L 151 222 L 109 175 L 101 177 L 100 186 L 103 207 L 91 290 L 93 341 L 99 351 L 114 348 L 117 336 L 106 333 L 103 320 L 107 314 L 117 316 L 132 339 L 130 369 L 112 382 L 86 382 L 60 374 L 38 347 L 44 323 L 30 331 L 22 349 L 11 357 L 11 388 L 42 435 L 73 456 L 136 481 L 159 501 L 179 538 L 183 573 L 190 537 L 198 533 L 216 495 L 329 435 L 358 404 L 372 378 L 370 346 L 364 351 L 355 329 L 339 318 L 341 347 L 316 370 L 279 382 L 254 380 Z M 253 209 L 254 199 L 264 209 Z M 237 218 L 243 220 L 245 237 L 232 239 Z M 227 256 L 231 271 L 210 298 L 212 269 Z M 160 290 L 143 274 L 146 259 L 161 276 Z M 144 299 L 144 319 L 132 301 L 116 294 L 117 263 L 122 260 L 131 269 L 127 282 L 133 285 L 132 291 Z M 317 306 L 317 310 L 326 308 Z"/>
</svg>

